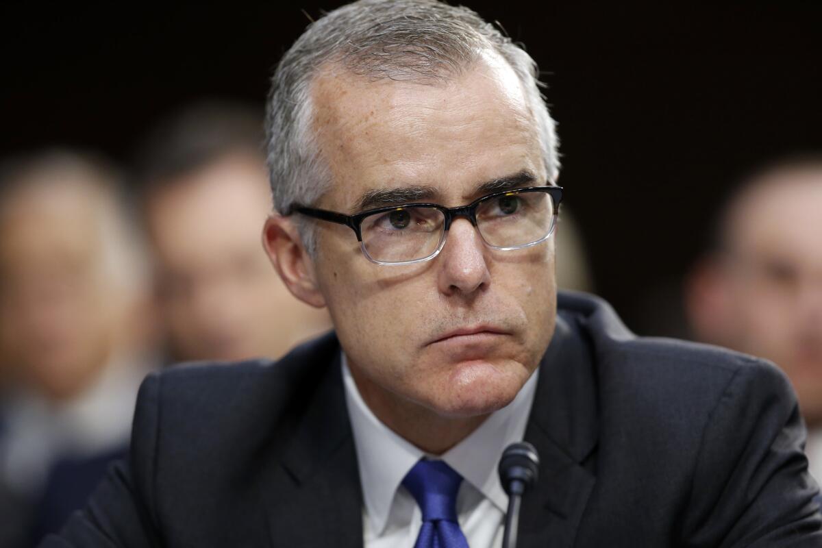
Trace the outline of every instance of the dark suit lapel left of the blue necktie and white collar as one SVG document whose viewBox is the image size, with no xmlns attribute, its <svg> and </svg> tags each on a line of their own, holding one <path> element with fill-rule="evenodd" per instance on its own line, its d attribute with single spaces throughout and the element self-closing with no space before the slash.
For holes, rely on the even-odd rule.
<svg viewBox="0 0 822 548">
<path fill-rule="evenodd" d="M 267 472 L 262 499 L 272 546 L 363 546 L 363 495 L 339 347 L 281 463 Z"/>
</svg>

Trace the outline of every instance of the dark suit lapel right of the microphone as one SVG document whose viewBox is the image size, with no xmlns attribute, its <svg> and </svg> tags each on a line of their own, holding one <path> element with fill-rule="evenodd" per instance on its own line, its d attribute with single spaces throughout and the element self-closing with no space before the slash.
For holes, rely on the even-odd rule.
<svg viewBox="0 0 822 548">
<path fill-rule="evenodd" d="M 525 431 L 525 440 L 539 453 L 540 467 L 537 485 L 524 495 L 518 546 L 573 546 L 596 481 L 595 391 L 589 347 L 557 315 Z"/>
</svg>

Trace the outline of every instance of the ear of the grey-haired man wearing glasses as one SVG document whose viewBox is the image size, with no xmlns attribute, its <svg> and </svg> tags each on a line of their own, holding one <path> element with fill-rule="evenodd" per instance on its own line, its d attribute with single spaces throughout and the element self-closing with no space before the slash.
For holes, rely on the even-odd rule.
<svg viewBox="0 0 822 548">
<path fill-rule="evenodd" d="M 271 214 L 263 228 L 262 245 L 294 297 L 317 308 L 326 306 L 326 299 L 316 282 L 314 260 L 302 246 L 299 231 L 290 219 Z"/>
</svg>

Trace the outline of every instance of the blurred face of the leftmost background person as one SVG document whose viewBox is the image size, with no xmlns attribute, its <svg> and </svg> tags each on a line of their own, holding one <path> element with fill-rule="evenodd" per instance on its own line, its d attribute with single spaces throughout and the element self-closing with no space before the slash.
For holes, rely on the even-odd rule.
<svg viewBox="0 0 822 548">
<path fill-rule="evenodd" d="M 102 207 L 70 179 L 25 182 L 0 204 L 0 355 L 51 398 L 88 385 L 122 335 Z"/>
</svg>

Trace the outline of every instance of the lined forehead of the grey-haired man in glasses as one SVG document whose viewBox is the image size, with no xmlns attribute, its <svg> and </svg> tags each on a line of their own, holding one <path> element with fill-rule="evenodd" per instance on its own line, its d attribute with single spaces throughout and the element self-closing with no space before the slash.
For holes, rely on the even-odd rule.
<svg viewBox="0 0 822 548">
<path fill-rule="evenodd" d="M 351 205 L 361 191 L 425 185 L 443 195 L 527 169 L 543 176 L 541 149 L 519 78 L 486 54 L 446 81 L 370 81 L 342 69 L 314 82 L 313 128 L 334 187 Z"/>
</svg>

